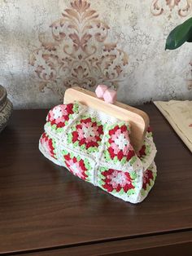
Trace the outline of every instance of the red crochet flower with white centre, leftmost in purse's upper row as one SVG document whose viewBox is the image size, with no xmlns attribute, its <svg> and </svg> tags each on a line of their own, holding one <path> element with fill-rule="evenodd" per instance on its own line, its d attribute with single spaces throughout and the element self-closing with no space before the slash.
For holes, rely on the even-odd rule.
<svg viewBox="0 0 192 256">
<path fill-rule="evenodd" d="M 48 113 L 47 120 L 51 126 L 56 125 L 58 128 L 65 126 L 65 121 L 68 121 L 69 115 L 73 114 L 73 104 L 61 104 L 51 109 Z"/>
</svg>

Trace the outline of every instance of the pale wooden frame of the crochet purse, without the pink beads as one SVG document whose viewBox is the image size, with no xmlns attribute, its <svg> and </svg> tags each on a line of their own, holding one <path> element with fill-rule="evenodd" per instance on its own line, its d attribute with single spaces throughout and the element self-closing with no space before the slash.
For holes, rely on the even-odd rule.
<svg viewBox="0 0 192 256">
<path fill-rule="evenodd" d="M 149 117 L 145 112 L 120 102 L 107 104 L 103 99 L 98 99 L 94 92 L 82 89 L 78 86 L 74 86 L 65 91 L 63 103 L 69 104 L 74 101 L 107 113 L 107 115 L 116 117 L 121 121 L 129 121 L 131 126 L 130 140 L 133 148 L 136 152 L 142 148 L 146 130 L 149 126 Z"/>
</svg>

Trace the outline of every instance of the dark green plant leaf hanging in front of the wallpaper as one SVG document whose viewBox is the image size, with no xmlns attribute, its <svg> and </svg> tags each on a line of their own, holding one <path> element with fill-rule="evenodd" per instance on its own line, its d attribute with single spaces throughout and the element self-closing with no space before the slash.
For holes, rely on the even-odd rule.
<svg viewBox="0 0 192 256">
<path fill-rule="evenodd" d="M 192 42 L 192 17 L 185 20 L 169 33 L 165 50 L 174 50 L 180 47 L 184 42 Z"/>
</svg>

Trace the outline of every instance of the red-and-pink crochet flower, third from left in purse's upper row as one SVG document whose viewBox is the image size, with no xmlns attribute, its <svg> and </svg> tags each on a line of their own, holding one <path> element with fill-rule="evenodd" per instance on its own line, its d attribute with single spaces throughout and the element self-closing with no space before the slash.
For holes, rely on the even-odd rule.
<svg viewBox="0 0 192 256">
<path fill-rule="evenodd" d="M 127 126 L 115 126 L 109 130 L 109 135 L 110 139 L 108 142 L 110 143 L 110 147 L 108 148 L 108 152 L 111 158 L 117 157 L 120 161 L 123 157 L 126 157 L 127 161 L 129 161 L 135 155 L 135 152 L 130 144 Z"/>
</svg>

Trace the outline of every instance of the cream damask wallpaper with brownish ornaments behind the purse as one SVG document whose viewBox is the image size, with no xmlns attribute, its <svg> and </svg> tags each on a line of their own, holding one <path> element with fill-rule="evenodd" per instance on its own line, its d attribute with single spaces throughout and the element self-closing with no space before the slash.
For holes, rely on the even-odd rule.
<svg viewBox="0 0 192 256">
<path fill-rule="evenodd" d="M 0 84 L 15 108 L 98 83 L 128 104 L 192 99 L 192 45 L 164 51 L 192 0 L 0 0 L 0 10 Z"/>
</svg>

